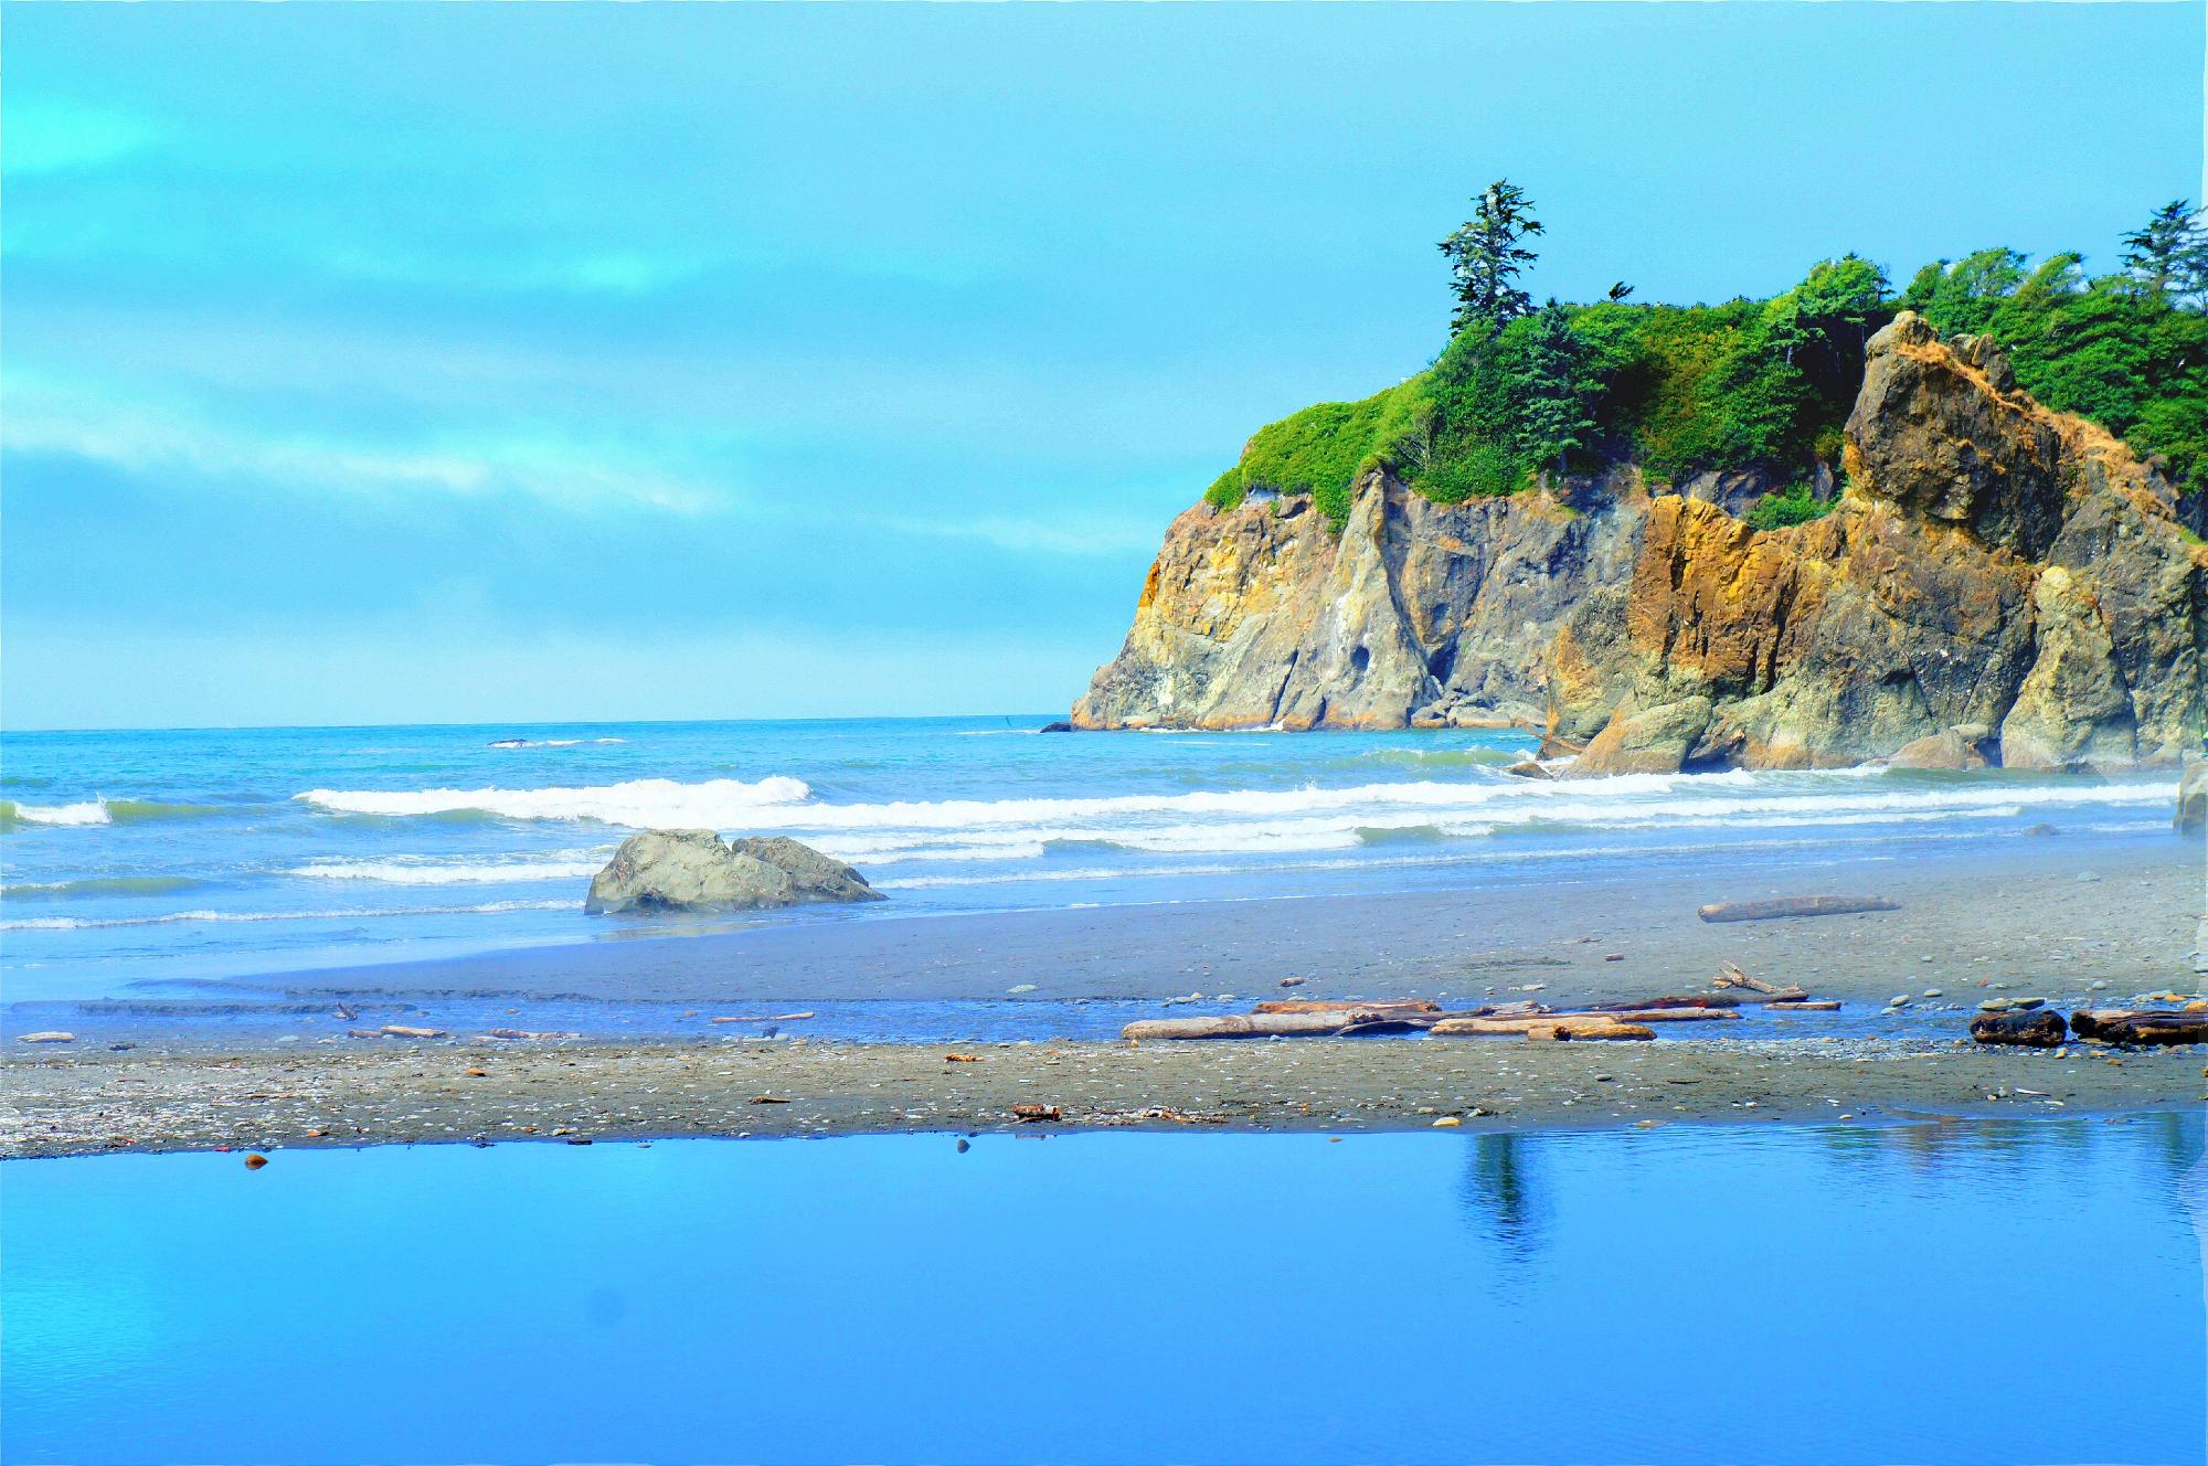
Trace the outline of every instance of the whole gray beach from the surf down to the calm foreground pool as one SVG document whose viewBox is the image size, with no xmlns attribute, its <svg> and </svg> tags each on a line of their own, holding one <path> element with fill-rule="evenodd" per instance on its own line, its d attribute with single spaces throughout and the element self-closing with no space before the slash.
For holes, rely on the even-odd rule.
<svg viewBox="0 0 2208 1466">
<path fill-rule="evenodd" d="M 1705 923 L 1713 899 L 1879 894 L 1897 910 Z M 148 998 L 18 1005 L 68 1044 L 7 1044 L 0 1155 L 461 1139 L 647 1139 L 1020 1126 L 1621 1126 L 2137 1111 L 2197 1104 L 2190 1049 L 1985 1051 L 1987 998 L 2069 1011 L 2199 985 L 2197 841 L 2018 837 L 1998 859 L 1557 881 L 1358 899 L 808 918 Z M 649 932 L 643 923 L 631 932 Z M 1702 991 L 1722 963 L 1841 1002 L 1663 1024 L 1641 1044 L 1115 1042 L 1133 1016 L 1263 998 Z M 1906 994 L 1906 1007 L 1890 1007 Z M 916 1000 L 899 1005 L 894 1000 Z M 773 1024 L 795 1009 L 802 1018 Z M 899 1042 L 857 1042 L 890 1011 Z M 490 1029 L 559 1038 L 497 1040 Z M 1018 1042 L 989 1042 L 1005 1013 Z M 744 1022 L 729 1022 L 740 1018 Z M 720 1020 L 720 1022 L 715 1022 Z M 384 1035 L 384 1024 L 435 1033 Z M 841 1027 L 839 1027 L 841 1024 Z M 947 1055 L 969 1055 L 972 1062 Z"/>
</svg>

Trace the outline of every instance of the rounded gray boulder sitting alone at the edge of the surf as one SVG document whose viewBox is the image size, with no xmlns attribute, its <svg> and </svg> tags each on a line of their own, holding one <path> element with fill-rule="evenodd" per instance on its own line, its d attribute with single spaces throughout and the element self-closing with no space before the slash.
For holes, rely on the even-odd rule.
<svg viewBox="0 0 2208 1466">
<path fill-rule="evenodd" d="M 590 883 L 583 910 L 607 912 L 751 912 L 815 901 L 881 901 L 843 861 L 795 839 L 724 841 L 713 830 L 647 830 Z"/>
</svg>

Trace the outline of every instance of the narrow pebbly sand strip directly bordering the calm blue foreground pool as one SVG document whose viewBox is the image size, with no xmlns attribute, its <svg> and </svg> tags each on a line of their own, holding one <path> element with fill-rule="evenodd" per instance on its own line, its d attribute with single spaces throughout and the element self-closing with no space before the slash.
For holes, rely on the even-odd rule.
<svg viewBox="0 0 2208 1466">
<path fill-rule="evenodd" d="M 947 1053 L 963 1053 L 947 1060 Z M 0 1159 L 883 1133 L 1459 1133 L 2133 1115 L 2204 1102 L 2195 1049 L 1888 1038 L 1183 1044 L 174 1044 L 0 1060 Z M 1047 1106 L 1027 1122 L 1013 1106 Z M 1455 1126 L 1435 1122 L 1455 1119 Z"/>
</svg>

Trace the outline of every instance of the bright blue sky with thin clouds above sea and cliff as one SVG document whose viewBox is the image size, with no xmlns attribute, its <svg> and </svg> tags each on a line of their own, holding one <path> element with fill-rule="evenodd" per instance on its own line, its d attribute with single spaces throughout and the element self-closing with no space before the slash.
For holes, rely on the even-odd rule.
<svg viewBox="0 0 2208 1466">
<path fill-rule="evenodd" d="M 7 726 L 1066 707 L 1263 422 L 1539 294 L 2115 238 L 2199 4 L 7 7 Z"/>
</svg>

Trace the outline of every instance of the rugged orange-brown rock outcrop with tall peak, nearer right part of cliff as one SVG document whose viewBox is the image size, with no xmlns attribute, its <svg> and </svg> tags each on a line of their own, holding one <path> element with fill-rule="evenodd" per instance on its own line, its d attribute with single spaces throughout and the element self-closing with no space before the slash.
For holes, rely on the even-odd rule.
<svg viewBox="0 0 2208 1466">
<path fill-rule="evenodd" d="M 1903 314 L 1872 338 L 1846 459 L 1837 510 L 1788 530 L 1656 501 L 1623 605 L 1559 634 L 1552 729 L 1594 733 L 1574 773 L 1972 766 L 1996 729 L 2029 768 L 2186 748 L 2208 550 L 2122 442 Z"/>
</svg>

